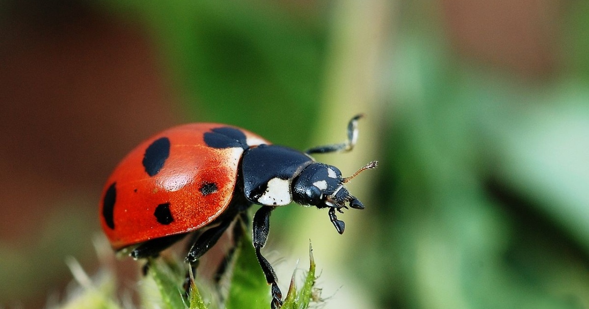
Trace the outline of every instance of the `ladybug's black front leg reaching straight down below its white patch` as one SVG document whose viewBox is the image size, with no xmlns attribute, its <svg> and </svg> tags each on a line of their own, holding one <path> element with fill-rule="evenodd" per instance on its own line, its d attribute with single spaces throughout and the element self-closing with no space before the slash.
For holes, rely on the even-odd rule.
<svg viewBox="0 0 589 309">
<path fill-rule="evenodd" d="M 266 276 L 266 282 L 272 285 L 272 303 L 270 303 L 272 309 L 282 307 L 282 291 L 280 291 L 280 288 L 278 287 L 278 278 L 276 277 L 276 273 L 274 273 L 272 265 L 270 265 L 268 260 L 262 256 L 260 249 L 266 245 L 266 241 L 268 240 L 270 212 L 272 212 L 274 208 L 276 207 L 260 207 L 260 209 L 256 211 L 253 220 L 253 245 L 254 249 L 256 249 L 257 260 Z"/>
</svg>

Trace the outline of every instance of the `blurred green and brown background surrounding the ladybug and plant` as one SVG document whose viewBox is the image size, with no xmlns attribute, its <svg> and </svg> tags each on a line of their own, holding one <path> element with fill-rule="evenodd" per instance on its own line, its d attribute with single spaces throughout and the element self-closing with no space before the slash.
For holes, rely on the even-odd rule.
<svg viewBox="0 0 589 309">
<path fill-rule="evenodd" d="M 275 211 L 283 290 L 310 239 L 326 308 L 589 308 L 588 29 L 582 0 L 2 1 L 0 307 L 94 273 L 102 182 L 154 132 L 305 149 L 364 112 L 317 160 L 379 160 L 366 209 Z"/>
</svg>

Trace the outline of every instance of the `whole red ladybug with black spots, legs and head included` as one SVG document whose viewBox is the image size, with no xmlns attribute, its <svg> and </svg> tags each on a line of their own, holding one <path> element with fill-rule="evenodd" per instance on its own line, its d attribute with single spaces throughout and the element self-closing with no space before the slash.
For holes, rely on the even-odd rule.
<svg viewBox="0 0 589 309">
<path fill-rule="evenodd" d="M 270 212 L 291 202 L 327 208 L 333 226 L 343 233 L 345 224 L 336 211 L 364 208 L 344 184 L 377 162 L 343 178 L 336 167 L 310 155 L 351 150 L 361 117 L 349 121 L 345 142 L 304 152 L 224 124 L 186 124 L 160 132 L 131 151 L 108 178 L 100 204 L 102 230 L 115 251 L 125 250 L 135 259 L 155 257 L 196 231 L 186 257 L 196 267 L 236 218 L 245 220 L 250 206 L 262 205 L 253 217 L 253 246 L 272 285 L 270 305 L 278 308 L 282 292 L 260 252 Z"/>
</svg>

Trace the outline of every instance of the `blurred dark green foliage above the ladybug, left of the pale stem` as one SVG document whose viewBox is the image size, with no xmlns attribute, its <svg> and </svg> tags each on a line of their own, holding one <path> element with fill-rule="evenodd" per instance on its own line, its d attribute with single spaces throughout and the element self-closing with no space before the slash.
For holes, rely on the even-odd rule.
<svg viewBox="0 0 589 309">
<path fill-rule="evenodd" d="M 317 118 L 322 15 L 299 19 L 273 2 L 107 3 L 153 31 L 186 98 L 187 120 L 222 121 L 305 147 L 297 136 L 310 134 L 306 124 Z M 287 129 L 293 125 L 299 128 Z"/>
</svg>

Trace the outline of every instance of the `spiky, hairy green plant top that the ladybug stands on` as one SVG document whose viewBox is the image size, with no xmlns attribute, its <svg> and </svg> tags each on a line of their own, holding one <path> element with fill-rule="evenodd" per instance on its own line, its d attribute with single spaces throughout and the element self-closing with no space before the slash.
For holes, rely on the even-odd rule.
<svg viewBox="0 0 589 309">
<path fill-rule="evenodd" d="M 81 265 L 74 259 L 68 259 L 68 265 L 75 278 L 75 285 L 72 285 L 66 300 L 55 308 L 104 308 L 121 309 L 132 308 L 133 305 L 125 295 L 131 291 L 119 288 L 112 258 L 105 258 L 107 248 L 106 240 L 97 238 L 97 249 L 101 258 L 101 270 L 94 277 L 88 276 Z M 313 302 L 319 303 L 322 300 L 320 289 L 315 287 L 316 265 L 313 259 L 313 252 L 309 247 L 309 271 L 304 274 L 302 287 L 297 288 L 295 270 L 290 281 L 290 287 L 284 298 L 284 309 L 306 309 Z M 256 252 L 252 246 L 252 239 L 246 235 L 237 244 L 231 263 L 222 285 L 228 285 L 229 292 L 224 295 L 223 287 L 210 287 L 203 280 L 194 278 L 190 269 L 189 280 L 190 294 L 186 293 L 187 264 L 183 260 L 174 257 L 162 257 L 150 259 L 148 267 L 143 270 L 145 274 L 138 281 L 138 297 L 141 299 L 141 308 L 164 308 L 164 309 L 213 309 L 213 308 L 239 308 L 256 309 L 269 307 L 270 297 L 266 278 L 260 270 L 256 260 Z M 147 265 L 146 265 L 147 266 Z M 198 286 L 197 286 L 198 282 Z M 203 288 L 204 287 L 204 288 Z M 204 292 L 201 292 L 203 288 Z M 206 298 L 203 298 L 206 295 Z M 225 300 L 225 301 L 221 301 Z M 220 305 L 221 303 L 221 305 Z"/>
</svg>

